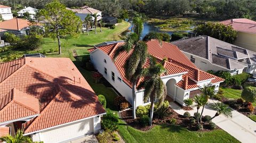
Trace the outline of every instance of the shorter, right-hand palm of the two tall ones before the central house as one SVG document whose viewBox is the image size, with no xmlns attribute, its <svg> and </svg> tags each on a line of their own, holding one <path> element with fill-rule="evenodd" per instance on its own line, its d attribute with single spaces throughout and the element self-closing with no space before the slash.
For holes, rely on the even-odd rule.
<svg viewBox="0 0 256 143">
<path fill-rule="evenodd" d="M 150 99 L 149 125 L 152 125 L 155 99 L 158 100 L 159 106 L 161 106 L 166 97 L 166 86 L 160 78 L 161 74 L 166 72 L 166 70 L 162 63 L 156 63 L 153 59 L 150 62 L 149 68 L 144 72 L 148 79 L 141 82 L 138 88 L 144 87 L 144 100 L 148 100 L 148 98 Z"/>
</svg>

